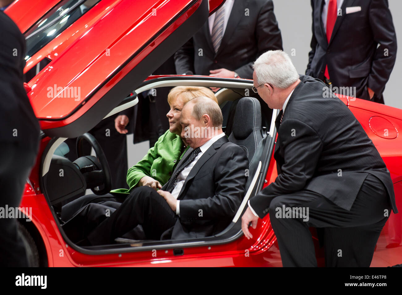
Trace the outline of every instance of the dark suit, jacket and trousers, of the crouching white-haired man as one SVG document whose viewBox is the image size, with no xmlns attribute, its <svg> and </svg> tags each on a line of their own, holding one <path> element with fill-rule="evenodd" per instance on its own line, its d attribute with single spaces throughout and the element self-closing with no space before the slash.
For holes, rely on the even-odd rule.
<svg viewBox="0 0 402 295">
<path fill-rule="evenodd" d="M 313 226 L 324 228 L 328 266 L 368 267 L 391 207 L 397 212 L 390 173 L 349 108 L 324 98 L 322 81 L 300 79 L 275 122 L 278 177 L 250 205 L 260 218 L 270 212 L 284 266 L 316 266 Z M 283 205 L 308 207 L 310 219 L 276 218 Z"/>
</svg>

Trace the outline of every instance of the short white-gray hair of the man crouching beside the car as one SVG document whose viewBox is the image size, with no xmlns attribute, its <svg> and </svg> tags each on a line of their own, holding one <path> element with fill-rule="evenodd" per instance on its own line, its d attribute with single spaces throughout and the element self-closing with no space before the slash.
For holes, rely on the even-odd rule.
<svg viewBox="0 0 402 295">
<path fill-rule="evenodd" d="M 274 87 L 285 89 L 299 79 L 289 55 L 282 50 L 270 50 L 258 57 L 253 64 L 257 83 L 270 83 Z"/>
</svg>

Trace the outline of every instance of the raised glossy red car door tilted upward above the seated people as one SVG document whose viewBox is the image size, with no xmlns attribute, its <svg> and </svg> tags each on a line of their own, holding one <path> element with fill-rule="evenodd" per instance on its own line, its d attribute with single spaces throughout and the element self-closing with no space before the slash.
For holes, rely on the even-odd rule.
<svg viewBox="0 0 402 295">
<path fill-rule="evenodd" d="M 39 62 L 45 55 L 53 57 L 28 83 L 32 89 L 28 96 L 40 120 L 41 129 L 66 126 L 83 116 L 183 24 L 199 8 L 201 2 L 103 0 L 88 10 L 31 58 Z M 21 10 L 12 8 L 7 8 L 6 13 L 10 10 L 10 13 L 14 13 L 13 18 L 18 19 L 16 15 Z M 154 14 L 158 15 L 158 21 L 153 18 Z M 62 46 L 64 42 L 66 45 Z M 59 51 L 57 43 L 61 46 Z M 53 45 L 55 46 L 51 47 Z M 57 58 L 54 59 L 56 53 Z M 25 71 L 31 65 L 34 65 L 33 61 L 28 60 Z M 59 87 L 62 90 L 58 90 Z M 71 87 L 77 92 L 79 90 L 80 98 L 60 97 L 60 93 Z M 53 94 L 49 90 L 52 88 L 55 89 Z M 114 106 L 123 98 L 117 98 Z M 106 114 L 107 112 L 103 115 Z"/>
</svg>

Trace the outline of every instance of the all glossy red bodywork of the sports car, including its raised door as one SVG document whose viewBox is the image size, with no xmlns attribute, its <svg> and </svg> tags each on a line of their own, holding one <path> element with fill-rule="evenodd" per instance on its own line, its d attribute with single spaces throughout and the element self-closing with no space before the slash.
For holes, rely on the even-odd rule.
<svg viewBox="0 0 402 295">
<path fill-rule="evenodd" d="M 29 2 L 19 0 L 10 5 L 6 13 L 17 22 L 21 31 L 26 31 L 57 2 L 39 1 L 35 3 L 37 9 L 33 13 L 32 10 L 26 9 L 26 3 Z M 35 61 L 40 60 L 38 58 L 40 55 L 42 57 L 47 56 L 52 60 L 34 79 L 29 81 L 28 84 L 31 89 L 26 87 L 43 130 L 66 126 L 84 116 L 154 47 L 189 18 L 197 10 L 201 0 L 195 2 L 173 24 L 160 32 L 158 24 L 159 28 L 162 27 L 161 23 L 168 24 L 191 1 L 175 0 L 174 4 L 173 1 L 165 2 L 152 0 L 144 5 L 139 2 L 133 4 L 132 1 L 124 0 L 102 0 L 33 55 L 32 59 Z M 210 0 L 210 13 L 216 10 L 222 2 L 222 0 Z M 23 5 L 24 3 L 25 5 Z M 150 20 L 152 8 L 158 8 L 158 13 L 161 13 L 158 24 Z M 86 27 L 86 25 L 88 26 Z M 158 31 L 159 34 L 153 42 L 141 49 L 141 46 L 146 44 Z M 99 36 L 102 37 L 99 38 Z M 55 47 L 57 44 L 59 45 Z M 110 49 L 110 56 L 105 55 L 106 49 Z M 137 52 L 137 54 L 126 63 L 133 52 Z M 33 66 L 34 63 L 31 65 L 27 63 L 25 71 Z M 112 78 L 108 79 L 109 77 Z M 151 76 L 147 80 L 158 77 L 169 76 Z M 104 81 L 107 82 L 104 83 Z M 238 81 L 244 80 L 238 79 Z M 103 83 L 104 85 L 98 87 Z M 61 98 L 49 99 L 47 87 L 53 84 L 62 87 L 78 87 L 79 85 L 82 98 L 79 101 L 74 101 L 74 99 L 66 101 Z M 90 99 L 87 100 L 88 98 Z M 402 146 L 402 139 L 398 130 L 402 128 L 402 110 L 346 96 L 340 97 L 340 99 L 355 114 L 384 159 L 394 183 L 397 205 L 401 208 L 402 155 L 400 147 Z M 119 101 L 116 100 L 115 104 L 111 104 L 110 110 L 118 103 Z M 77 110 L 74 114 L 71 114 L 75 109 Z M 90 126 L 88 125 L 89 129 Z M 387 136 L 384 135 L 387 133 L 386 131 L 381 133 L 383 129 L 388 130 Z M 88 254 L 85 249 L 69 246 L 64 240 L 59 224 L 40 189 L 41 157 L 50 139 L 48 136 L 43 136 L 41 140 L 37 162 L 29 176 L 29 183 L 25 187 L 21 203 L 21 207 L 32 208 L 32 224 L 39 232 L 41 242 L 45 247 L 48 266 L 278 267 L 282 265 L 276 237 L 269 222 L 269 214 L 263 220 L 258 220 L 256 229 L 250 228 L 250 232 L 254 236 L 251 240 L 247 240 L 243 235 L 226 244 L 183 247 L 184 254 L 182 256 L 176 256 L 172 248 L 124 253 L 116 251 L 113 254 L 94 255 Z M 276 163 L 275 159 L 271 157 L 264 187 L 275 181 L 276 177 Z M 400 220 L 399 216 L 398 219 L 395 218 L 397 215 L 392 214 L 381 233 L 379 243 L 377 243 L 378 247 L 374 254 L 372 266 L 388 266 L 401 262 L 398 261 L 401 257 L 401 250 L 398 248 L 386 249 L 384 245 L 388 228 L 395 226 L 395 224 L 398 225 Z M 312 234 L 316 245 L 318 265 L 323 266 L 323 249 L 318 247 L 314 230 L 312 230 Z"/>
</svg>

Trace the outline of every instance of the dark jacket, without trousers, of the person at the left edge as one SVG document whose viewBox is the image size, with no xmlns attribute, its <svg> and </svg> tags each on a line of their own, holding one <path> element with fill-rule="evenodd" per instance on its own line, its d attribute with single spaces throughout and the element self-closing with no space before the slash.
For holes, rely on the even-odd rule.
<svg viewBox="0 0 402 295">
<path fill-rule="evenodd" d="M 2 11 L 0 32 L 0 142 L 18 144 L 36 152 L 39 124 L 23 81 L 25 39 Z"/>
</svg>

